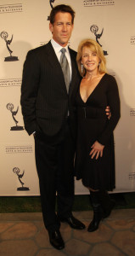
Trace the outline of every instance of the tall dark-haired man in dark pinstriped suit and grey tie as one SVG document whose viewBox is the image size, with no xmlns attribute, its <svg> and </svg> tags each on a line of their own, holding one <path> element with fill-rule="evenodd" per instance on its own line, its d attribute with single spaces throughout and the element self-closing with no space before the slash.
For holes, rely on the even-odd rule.
<svg viewBox="0 0 135 256">
<path fill-rule="evenodd" d="M 42 216 L 49 241 L 57 249 L 65 247 L 59 232 L 60 222 L 70 224 L 73 229 L 85 228 L 71 213 L 75 153 L 73 106 L 80 82 L 76 52 L 67 46 L 74 26 L 74 16 L 74 10 L 68 5 L 62 4 L 52 9 L 49 29 L 53 39 L 48 44 L 28 52 L 21 87 L 20 102 L 25 130 L 29 135 L 33 133 L 35 137 Z M 60 51 L 63 48 L 65 53 Z M 64 67 L 60 66 L 62 58 L 65 58 L 68 65 L 66 74 Z M 68 72 L 69 84 L 66 81 L 69 78 L 65 78 Z"/>
</svg>

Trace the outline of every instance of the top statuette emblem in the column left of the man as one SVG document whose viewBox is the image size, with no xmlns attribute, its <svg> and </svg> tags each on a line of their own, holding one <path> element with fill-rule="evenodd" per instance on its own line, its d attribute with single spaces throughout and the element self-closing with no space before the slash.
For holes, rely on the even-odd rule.
<svg viewBox="0 0 135 256">
<path fill-rule="evenodd" d="M 9 56 L 8 57 L 5 57 L 5 60 L 4 61 L 19 61 L 18 57 L 17 56 L 13 56 L 12 53 L 13 53 L 13 50 L 11 50 L 9 48 L 9 45 L 12 43 L 12 40 L 13 40 L 13 35 L 11 37 L 10 40 L 7 40 L 8 38 L 8 32 L 1 32 L 0 33 L 0 37 L 5 41 L 6 43 L 6 46 L 7 46 L 7 49 L 8 49 L 8 52 L 9 52 Z"/>
</svg>

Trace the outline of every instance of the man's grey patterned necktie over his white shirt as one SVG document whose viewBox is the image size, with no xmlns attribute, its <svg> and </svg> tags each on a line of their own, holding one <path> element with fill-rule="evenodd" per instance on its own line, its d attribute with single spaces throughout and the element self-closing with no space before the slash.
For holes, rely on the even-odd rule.
<svg viewBox="0 0 135 256">
<path fill-rule="evenodd" d="M 64 73 L 66 90 L 67 90 L 67 92 L 69 92 L 69 87 L 70 87 L 70 67 L 69 67 L 69 63 L 67 61 L 67 58 L 65 56 L 66 49 L 62 48 L 62 49 L 60 49 L 60 51 L 61 51 L 61 55 L 60 55 L 59 63 L 61 65 L 62 71 Z"/>
</svg>

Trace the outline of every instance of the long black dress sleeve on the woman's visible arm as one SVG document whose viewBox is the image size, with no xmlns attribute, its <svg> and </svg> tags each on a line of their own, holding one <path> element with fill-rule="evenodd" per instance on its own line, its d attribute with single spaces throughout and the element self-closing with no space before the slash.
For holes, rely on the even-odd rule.
<svg viewBox="0 0 135 256">
<path fill-rule="evenodd" d="M 110 139 L 110 136 L 115 130 L 115 126 L 117 125 L 121 116 L 118 86 L 116 84 L 115 78 L 112 76 L 110 76 L 108 81 L 108 89 L 106 93 L 108 106 L 110 106 L 111 117 L 107 120 L 107 125 L 103 133 L 98 137 L 98 143 L 103 145 L 105 145 Z"/>
</svg>

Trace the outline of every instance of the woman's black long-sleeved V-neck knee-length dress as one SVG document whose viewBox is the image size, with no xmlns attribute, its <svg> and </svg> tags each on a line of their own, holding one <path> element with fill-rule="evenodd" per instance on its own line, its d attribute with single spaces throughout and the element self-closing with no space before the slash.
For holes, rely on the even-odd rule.
<svg viewBox="0 0 135 256">
<path fill-rule="evenodd" d="M 111 117 L 107 118 L 106 106 Z M 82 101 L 80 90 L 76 96 L 77 144 L 76 179 L 92 189 L 115 188 L 115 154 L 113 131 L 120 119 L 120 99 L 115 78 L 105 73 L 87 102 Z M 92 160 L 89 155 L 95 141 L 104 145 L 103 157 Z"/>
</svg>

